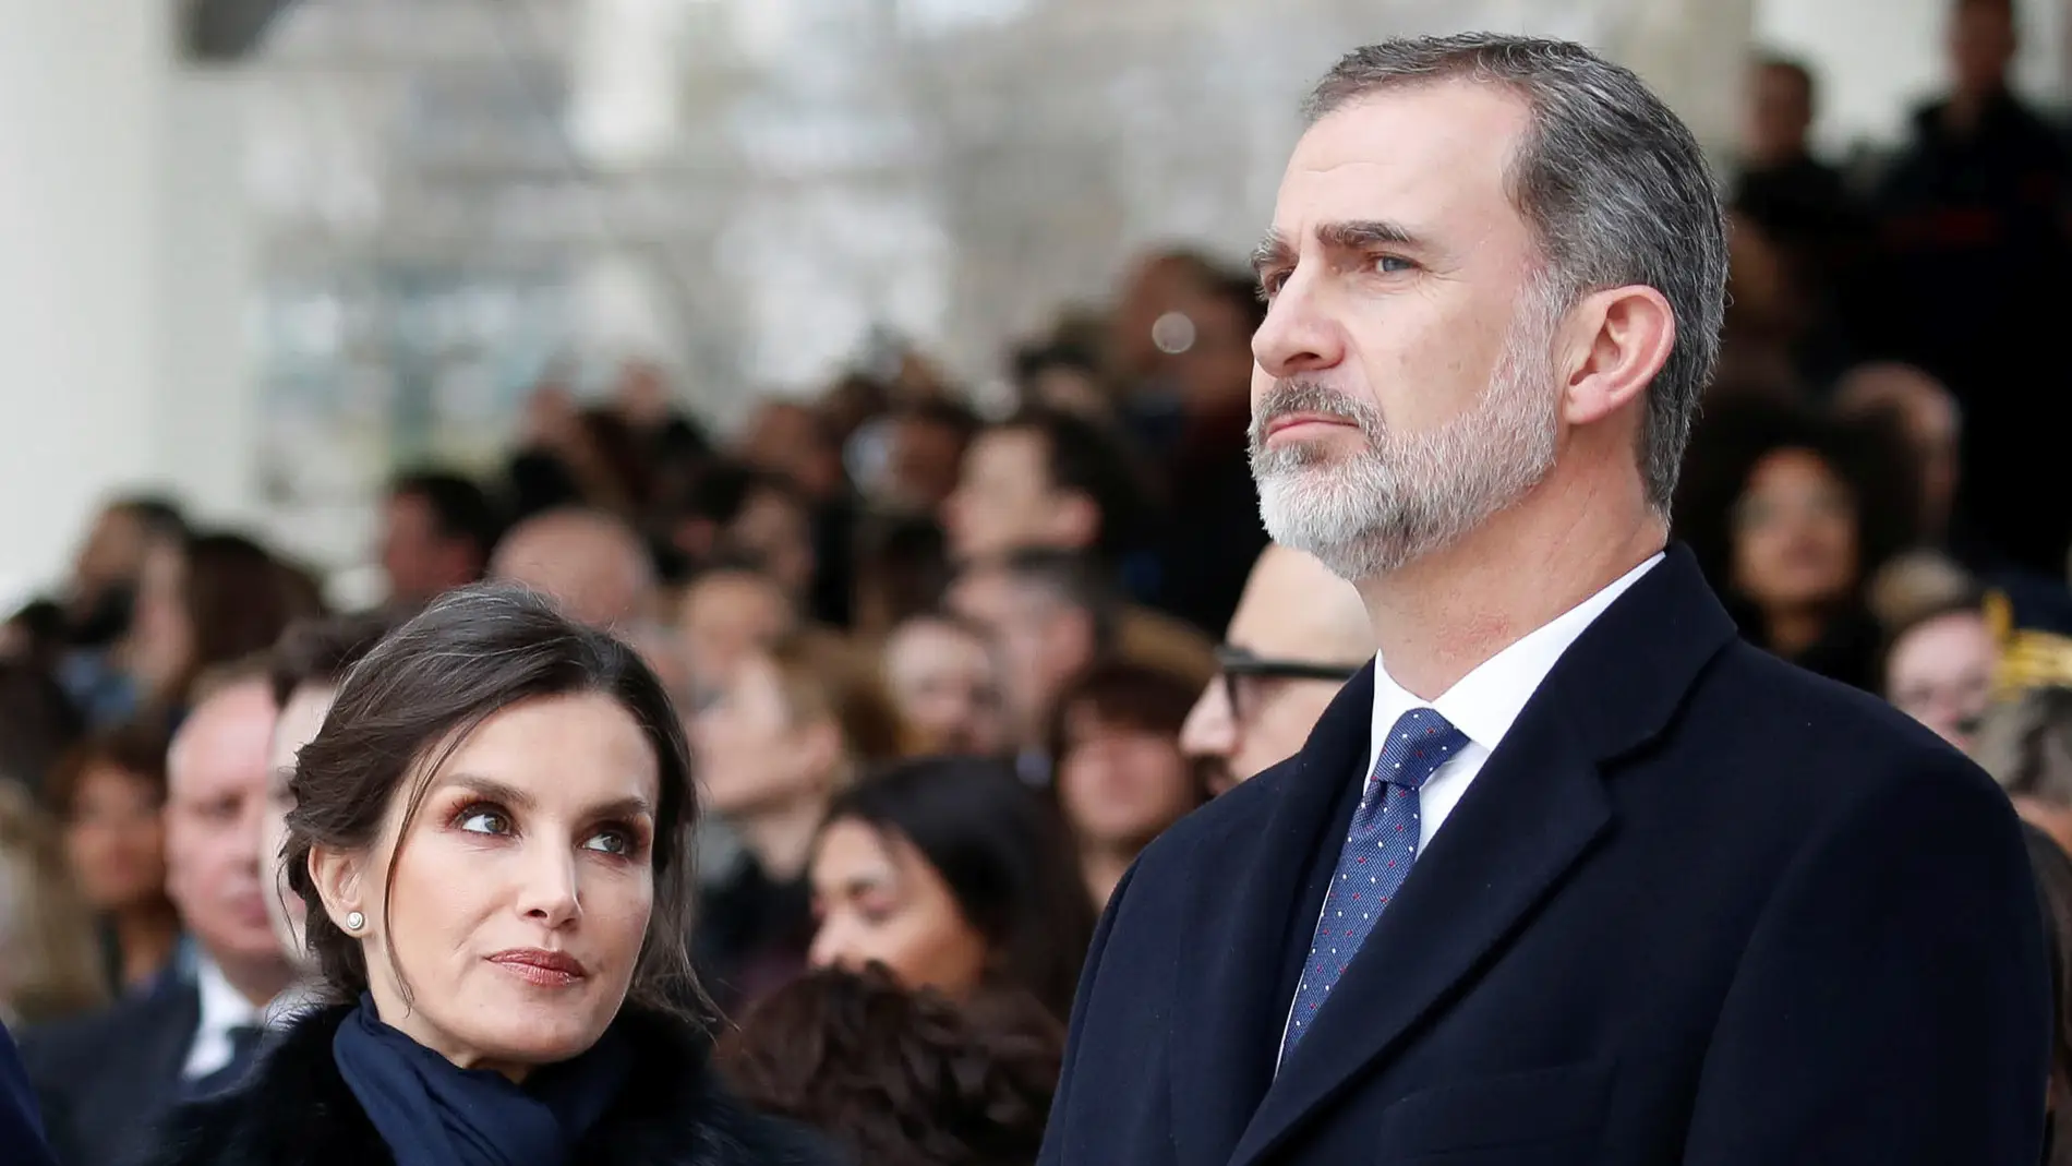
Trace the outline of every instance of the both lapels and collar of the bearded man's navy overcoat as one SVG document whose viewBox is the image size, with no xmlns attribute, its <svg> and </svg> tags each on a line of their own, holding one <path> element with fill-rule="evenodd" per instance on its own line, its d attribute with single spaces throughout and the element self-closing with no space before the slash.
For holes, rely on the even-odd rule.
<svg viewBox="0 0 2072 1166">
<path fill-rule="evenodd" d="M 1179 1015 L 1245 1019 L 1175 1025 L 1173 1081 L 1187 1112 L 1229 1114 L 1214 1129 L 1175 1131 L 1181 1158 L 1249 1166 L 1401 1048 L 1610 826 L 1606 775 L 1670 727 L 1732 640 L 1734 621 L 1691 551 L 1672 547 L 1548 673 L 1276 1075 L 1289 911 L 1305 909 L 1307 859 L 1336 837 L 1339 793 L 1365 768 L 1374 665 L 1355 675 L 1303 752 L 1254 779 L 1260 791 L 1239 791 L 1264 801 L 1245 822 L 1256 841 L 1229 843 L 1249 845 L 1249 862 L 1204 880 L 1220 891 L 1204 888 L 1196 903 L 1200 949 L 1225 955 L 1183 969 Z M 1504 862 L 1490 864 L 1492 853 Z M 1359 1023 L 1332 1025 L 1332 1013 Z"/>
</svg>

